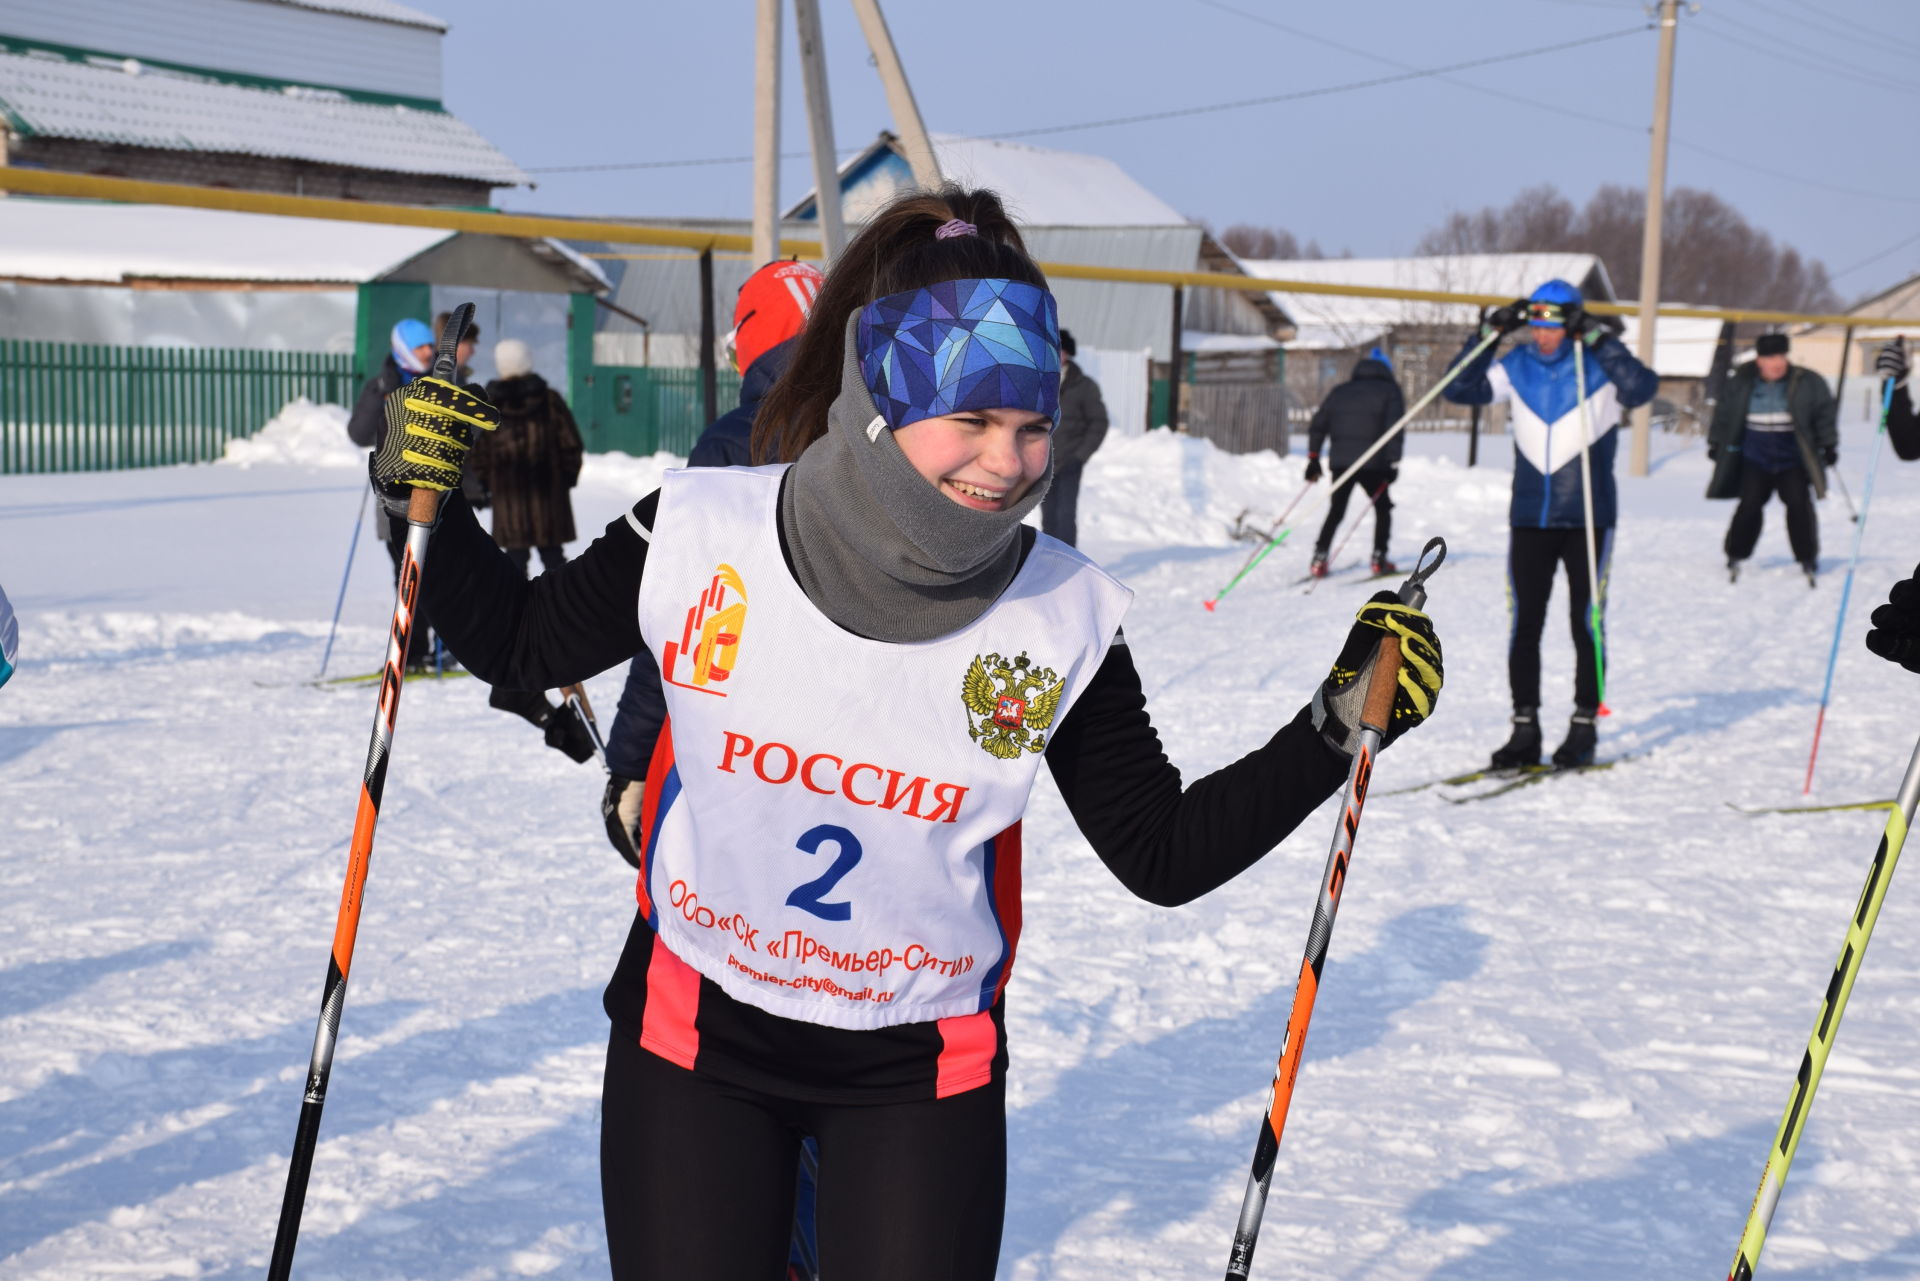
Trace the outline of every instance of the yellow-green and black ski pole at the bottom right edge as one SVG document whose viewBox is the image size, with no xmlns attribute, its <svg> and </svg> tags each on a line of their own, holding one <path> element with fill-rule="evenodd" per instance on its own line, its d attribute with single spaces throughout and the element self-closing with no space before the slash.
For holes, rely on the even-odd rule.
<svg viewBox="0 0 1920 1281">
<path fill-rule="evenodd" d="M 1874 866 L 1866 872 L 1866 885 L 1860 889 L 1853 920 L 1847 922 L 1847 941 L 1839 951 L 1839 960 L 1834 964 L 1834 978 L 1826 983 L 1826 997 L 1820 1001 L 1820 1018 L 1812 1026 L 1812 1037 L 1807 1039 L 1807 1052 L 1801 1054 L 1793 1093 L 1788 1099 L 1786 1116 L 1780 1118 L 1780 1133 L 1774 1135 L 1774 1147 L 1766 1150 L 1761 1189 L 1753 1195 L 1747 1227 L 1740 1233 L 1740 1248 L 1734 1252 L 1734 1266 L 1726 1273 L 1728 1281 L 1751 1281 L 1753 1268 L 1761 1262 L 1766 1229 L 1774 1221 L 1774 1208 L 1780 1204 L 1788 1168 L 1793 1164 L 1793 1152 L 1799 1150 L 1801 1133 L 1807 1129 L 1812 1095 L 1820 1089 L 1826 1056 L 1834 1051 L 1834 1037 L 1839 1035 L 1839 1018 L 1847 1012 L 1853 979 L 1860 974 L 1860 958 L 1866 955 L 1868 939 L 1874 937 L 1874 922 L 1880 920 L 1880 905 L 1887 899 L 1887 883 L 1893 880 L 1893 868 L 1901 860 L 1901 845 L 1907 843 L 1907 828 L 1912 826 L 1916 803 L 1920 803 L 1920 743 L 1914 745 L 1912 761 L 1907 762 L 1907 778 L 1901 780 L 1901 791 L 1887 810 L 1887 826 L 1880 835 L 1880 851 L 1874 855 Z"/>
</svg>

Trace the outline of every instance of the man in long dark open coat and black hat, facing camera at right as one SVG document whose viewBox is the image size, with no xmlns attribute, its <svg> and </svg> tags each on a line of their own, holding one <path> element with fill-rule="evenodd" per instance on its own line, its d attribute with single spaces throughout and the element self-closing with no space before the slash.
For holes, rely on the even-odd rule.
<svg viewBox="0 0 1920 1281">
<path fill-rule="evenodd" d="M 1766 499 L 1788 509 L 1788 542 L 1812 586 L 1820 572 L 1820 522 L 1814 495 L 1826 497 L 1826 471 L 1839 461 L 1837 405 L 1826 378 L 1788 361 L 1786 334 L 1761 334 L 1753 359 L 1726 380 L 1707 428 L 1713 480 L 1707 497 L 1738 497 L 1726 526 L 1726 574 L 1761 538 Z M 1822 467 L 1824 465 L 1824 467 Z"/>
</svg>

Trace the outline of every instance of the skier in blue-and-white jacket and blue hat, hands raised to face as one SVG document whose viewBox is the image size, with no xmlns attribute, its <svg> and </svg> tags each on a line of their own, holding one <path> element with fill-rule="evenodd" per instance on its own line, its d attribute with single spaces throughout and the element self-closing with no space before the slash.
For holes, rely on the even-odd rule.
<svg viewBox="0 0 1920 1281">
<path fill-rule="evenodd" d="M 1500 307 L 1469 340 L 1471 350 L 1490 332 L 1532 328 L 1532 342 L 1513 346 L 1498 361 L 1482 351 L 1448 386 L 1455 405 L 1507 405 L 1513 432 L 1513 526 L 1507 544 L 1507 599 L 1513 630 L 1507 640 L 1507 682 L 1513 688 L 1513 736 L 1494 753 L 1496 770 L 1540 764 L 1540 632 L 1548 618 L 1555 567 L 1567 567 L 1567 609 L 1574 649 L 1574 713 L 1567 741 L 1553 751 L 1559 768 L 1592 764 L 1599 714 L 1599 659 L 1605 616 L 1594 616 L 1586 567 L 1592 524 L 1599 599 L 1607 599 L 1607 559 L 1619 511 L 1613 455 L 1622 409 L 1653 399 L 1659 376 L 1634 359 L 1611 328 L 1582 305 L 1580 290 L 1548 280 L 1532 298 Z M 1571 342 L 1569 342 L 1571 338 Z M 1586 350 L 1586 413 L 1580 411 L 1572 344 Z M 1586 509 L 1580 453 L 1594 476 L 1594 511 Z M 1596 630 L 1597 628 L 1597 636 Z"/>
</svg>

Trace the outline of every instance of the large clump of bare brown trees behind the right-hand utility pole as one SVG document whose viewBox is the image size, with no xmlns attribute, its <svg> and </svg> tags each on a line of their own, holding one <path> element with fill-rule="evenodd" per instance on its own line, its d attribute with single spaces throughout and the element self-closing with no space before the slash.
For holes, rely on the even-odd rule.
<svg viewBox="0 0 1920 1281">
<path fill-rule="evenodd" d="M 1428 230 L 1417 254 L 1596 254 L 1615 288 L 1632 292 L 1640 280 L 1640 238 L 1645 192 L 1603 184 L 1574 209 L 1553 186 L 1528 186 L 1505 207 L 1450 213 Z M 1753 227 L 1734 205 L 1695 186 L 1667 194 L 1661 221 L 1661 294 L 1674 302 L 1722 307 L 1834 311 L 1826 265 Z"/>
</svg>

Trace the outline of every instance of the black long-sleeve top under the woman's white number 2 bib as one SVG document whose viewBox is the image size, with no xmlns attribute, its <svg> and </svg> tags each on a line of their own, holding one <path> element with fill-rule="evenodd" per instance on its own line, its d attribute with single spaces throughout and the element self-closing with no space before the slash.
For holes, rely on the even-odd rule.
<svg viewBox="0 0 1920 1281">
<path fill-rule="evenodd" d="M 551 689 L 626 663 L 641 645 L 639 580 L 659 495 L 578 557 L 532 582 L 451 497 L 424 574 L 426 611 L 453 655 L 488 684 Z M 1344 782 L 1348 761 L 1308 711 L 1190 787 L 1167 761 L 1125 641 L 1116 641 L 1046 749 L 1068 812 L 1135 895 L 1173 906 L 1223 885 L 1279 845 Z M 653 931 L 637 918 L 607 989 L 614 1026 L 637 1033 Z M 1004 1024 L 995 1077 L 1004 1074 Z M 732 1001 L 701 979 L 697 1070 L 789 1097 L 925 1099 L 939 1035 L 929 1024 L 847 1031 Z"/>
</svg>

